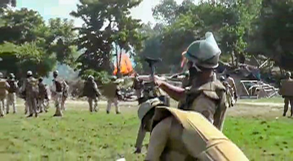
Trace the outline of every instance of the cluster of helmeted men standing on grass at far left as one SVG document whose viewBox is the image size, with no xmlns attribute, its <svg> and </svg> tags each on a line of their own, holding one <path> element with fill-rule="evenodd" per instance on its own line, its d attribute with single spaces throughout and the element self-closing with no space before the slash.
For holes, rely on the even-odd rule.
<svg viewBox="0 0 293 161">
<path fill-rule="evenodd" d="M 66 81 L 59 78 L 58 71 L 53 72 L 54 79 L 52 80 L 52 86 L 48 87 L 43 83 L 43 78 L 38 79 L 33 77 L 32 71 L 27 71 L 26 78 L 22 83 L 22 86 L 18 88 L 18 81 L 15 80 L 13 73 L 10 73 L 8 79 L 3 78 L 3 74 L 0 73 L 0 82 L 4 88 L 0 88 L 1 98 L 1 117 L 4 117 L 4 110 L 7 100 L 6 114 L 9 113 L 9 107 L 13 106 L 13 113 L 17 112 L 16 109 L 16 95 L 19 93 L 20 97 L 25 100 L 25 114 L 28 117 L 38 117 L 42 112 L 47 112 L 49 105 L 49 93 L 51 92 L 52 98 L 55 103 L 56 112 L 54 116 L 62 117 L 62 110 L 66 110 L 65 103 L 68 97 L 69 86 Z M 50 91 L 50 92 L 49 92 Z"/>
</svg>

